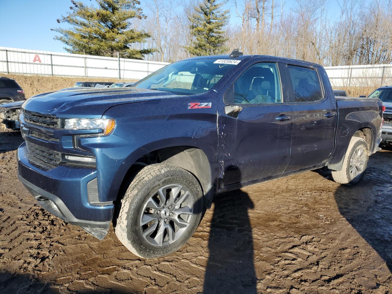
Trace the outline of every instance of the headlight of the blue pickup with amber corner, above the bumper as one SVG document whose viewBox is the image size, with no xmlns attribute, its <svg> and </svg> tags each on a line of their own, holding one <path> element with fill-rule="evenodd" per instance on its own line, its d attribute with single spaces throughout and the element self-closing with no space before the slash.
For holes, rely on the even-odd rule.
<svg viewBox="0 0 392 294">
<path fill-rule="evenodd" d="M 67 118 L 64 124 L 65 129 L 102 129 L 103 135 L 110 134 L 115 126 L 113 118 Z"/>
</svg>

